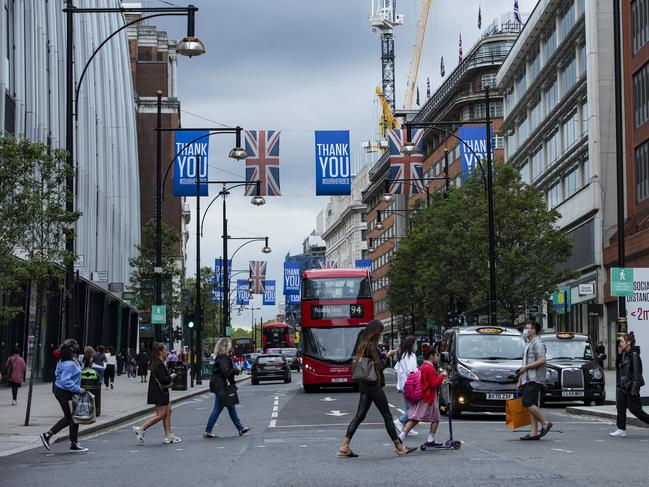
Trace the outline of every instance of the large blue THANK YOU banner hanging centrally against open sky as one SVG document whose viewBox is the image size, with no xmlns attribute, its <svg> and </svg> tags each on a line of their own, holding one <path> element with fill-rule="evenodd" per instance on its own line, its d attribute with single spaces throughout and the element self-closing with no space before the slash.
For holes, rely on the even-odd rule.
<svg viewBox="0 0 649 487">
<path fill-rule="evenodd" d="M 349 195 L 352 191 L 349 130 L 316 130 L 316 195 Z"/>
</svg>

